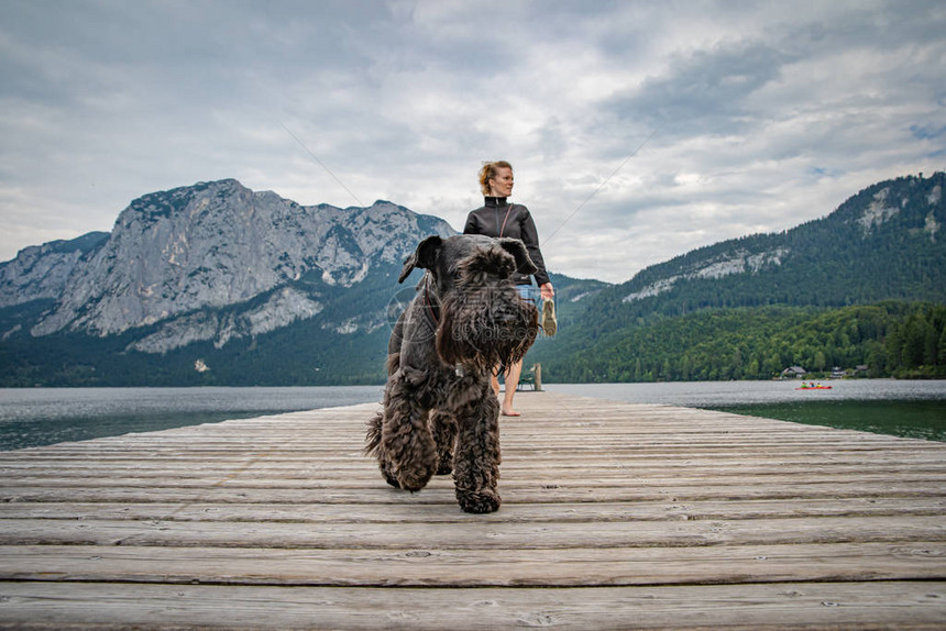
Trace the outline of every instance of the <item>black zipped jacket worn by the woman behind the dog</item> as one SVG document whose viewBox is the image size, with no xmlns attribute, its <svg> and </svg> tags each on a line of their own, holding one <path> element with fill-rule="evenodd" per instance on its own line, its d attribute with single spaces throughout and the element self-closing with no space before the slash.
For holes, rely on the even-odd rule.
<svg viewBox="0 0 946 631">
<path fill-rule="evenodd" d="M 526 244 L 529 258 L 538 267 L 536 281 L 541 287 L 549 283 L 546 262 L 539 250 L 539 233 L 529 209 L 519 203 L 508 203 L 505 197 L 487 197 L 483 208 L 471 211 L 466 217 L 463 234 L 483 234 L 486 236 L 510 236 L 520 239 Z M 514 274 L 516 285 L 531 285 L 532 280 L 526 274 Z"/>
</svg>

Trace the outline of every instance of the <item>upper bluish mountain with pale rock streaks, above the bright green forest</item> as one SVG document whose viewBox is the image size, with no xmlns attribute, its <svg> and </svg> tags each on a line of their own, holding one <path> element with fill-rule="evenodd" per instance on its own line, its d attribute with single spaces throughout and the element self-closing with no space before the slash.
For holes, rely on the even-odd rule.
<svg viewBox="0 0 946 631">
<path fill-rule="evenodd" d="M 723 241 L 650 266 L 620 286 L 623 301 L 641 310 L 667 310 L 673 303 L 680 312 L 780 302 L 789 295 L 804 296 L 811 305 L 944 299 L 944 186 L 942 171 L 877 182 L 827 217 L 784 232 Z M 903 259 L 901 253 L 906 252 L 914 261 Z M 932 278 L 944 283 L 930 283 Z M 772 287 L 781 288 L 780 297 L 772 296 Z"/>
</svg>

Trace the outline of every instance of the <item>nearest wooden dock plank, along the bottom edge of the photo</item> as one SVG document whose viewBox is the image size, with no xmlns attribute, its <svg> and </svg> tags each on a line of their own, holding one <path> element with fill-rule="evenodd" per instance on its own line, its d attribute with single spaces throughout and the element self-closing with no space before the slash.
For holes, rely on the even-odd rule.
<svg viewBox="0 0 946 631">
<path fill-rule="evenodd" d="M 75 629 L 942 629 L 946 584 L 506 588 L 0 584 L 0 624 Z"/>
</svg>

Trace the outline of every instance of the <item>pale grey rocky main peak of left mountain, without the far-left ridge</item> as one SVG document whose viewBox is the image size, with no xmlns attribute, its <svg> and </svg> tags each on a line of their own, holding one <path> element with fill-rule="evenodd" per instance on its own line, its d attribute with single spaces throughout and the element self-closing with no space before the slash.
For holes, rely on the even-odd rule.
<svg viewBox="0 0 946 631">
<path fill-rule="evenodd" d="M 452 233 L 438 220 L 435 231 Z M 302 207 L 235 179 L 144 195 L 119 215 L 108 241 L 76 263 L 53 311 L 32 332 L 98 335 L 152 325 L 200 309 L 253 300 L 315 277 L 348 287 L 372 266 L 399 263 L 429 221 L 389 202 L 345 213 Z M 283 308 L 306 300 L 282 300 Z"/>
</svg>

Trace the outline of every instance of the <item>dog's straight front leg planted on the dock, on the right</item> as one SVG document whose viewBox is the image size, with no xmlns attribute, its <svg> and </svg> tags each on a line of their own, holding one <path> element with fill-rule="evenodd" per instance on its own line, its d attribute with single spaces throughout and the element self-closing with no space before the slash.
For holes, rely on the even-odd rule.
<svg viewBox="0 0 946 631">
<path fill-rule="evenodd" d="M 482 379 L 480 396 L 457 414 L 459 434 L 453 456 L 457 501 L 466 512 L 493 512 L 502 502 L 499 483 L 499 401 Z"/>
</svg>

